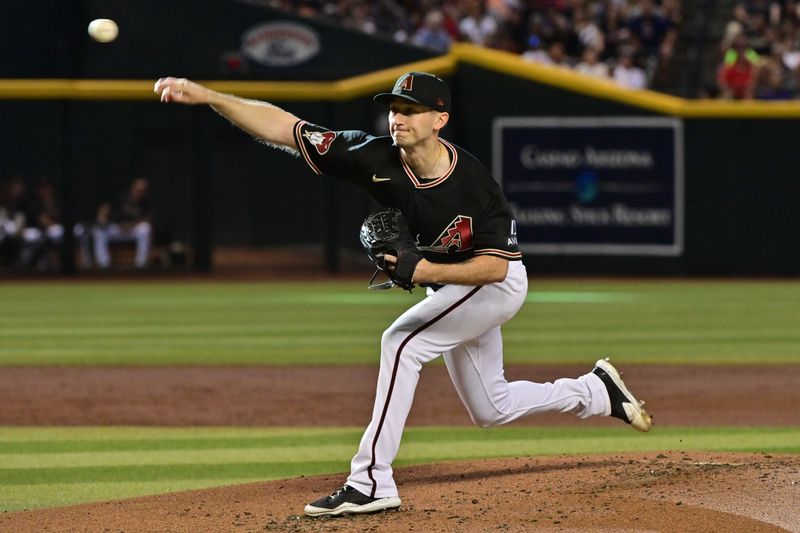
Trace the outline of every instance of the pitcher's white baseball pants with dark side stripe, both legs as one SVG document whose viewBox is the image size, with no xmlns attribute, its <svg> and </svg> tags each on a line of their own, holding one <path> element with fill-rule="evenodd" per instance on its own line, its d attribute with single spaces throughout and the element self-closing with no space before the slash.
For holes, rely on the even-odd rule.
<svg viewBox="0 0 800 533">
<path fill-rule="evenodd" d="M 500 325 L 516 314 L 527 291 L 525 266 L 511 261 L 502 282 L 429 289 L 427 298 L 384 332 L 372 421 L 351 462 L 350 486 L 376 498 L 397 496 L 392 462 L 419 372 L 440 354 L 461 401 L 481 427 L 534 413 L 556 411 L 586 418 L 611 412 L 605 386 L 592 373 L 554 383 L 506 381 Z"/>
</svg>

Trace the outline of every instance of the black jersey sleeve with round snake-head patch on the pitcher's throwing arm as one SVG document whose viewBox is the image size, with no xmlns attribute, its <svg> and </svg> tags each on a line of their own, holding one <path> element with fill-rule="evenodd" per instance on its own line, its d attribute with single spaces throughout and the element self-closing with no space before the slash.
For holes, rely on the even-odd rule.
<svg viewBox="0 0 800 533">
<path fill-rule="evenodd" d="M 333 131 L 304 120 L 294 126 L 295 143 L 311 170 L 348 181 L 358 182 L 369 173 L 364 146 L 371 138 L 363 131 Z"/>
</svg>

